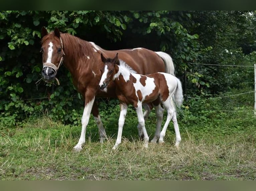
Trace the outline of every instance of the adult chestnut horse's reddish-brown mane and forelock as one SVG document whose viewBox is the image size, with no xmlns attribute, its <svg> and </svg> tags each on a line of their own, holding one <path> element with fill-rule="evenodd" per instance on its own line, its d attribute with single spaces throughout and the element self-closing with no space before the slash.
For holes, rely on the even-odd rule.
<svg viewBox="0 0 256 191">
<path fill-rule="evenodd" d="M 60 33 L 60 37 L 63 43 L 63 51 L 65 54 L 73 57 L 75 60 L 79 59 L 85 54 L 86 56 L 91 57 L 93 50 L 92 45 L 88 41 L 82 40 L 68 33 Z M 41 40 L 41 44 L 49 41 L 51 41 L 53 44 L 59 43 L 58 38 L 54 35 L 53 32 L 45 35 Z"/>
</svg>

